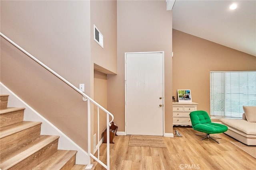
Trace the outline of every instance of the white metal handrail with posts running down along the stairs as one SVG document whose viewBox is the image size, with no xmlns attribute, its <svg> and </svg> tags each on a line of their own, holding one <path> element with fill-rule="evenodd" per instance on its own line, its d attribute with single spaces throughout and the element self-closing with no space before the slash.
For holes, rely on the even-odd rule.
<svg viewBox="0 0 256 170">
<path fill-rule="evenodd" d="M 31 59 L 33 59 L 34 61 L 36 61 L 36 63 L 40 64 L 41 66 L 43 66 L 44 68 L 46 68 L 48 71 L 50 71 L 52 74 L 54 74 L 56 77 L 58 77 L 60 80 L 62 80 L 63 82 L 65 82 L 66 84 L 68 84 L 68 86 L 70 86 L 71 88 L 73 88 L 74 90 L 76 90 L 76 92 L 80 93 L 83 96 L 83 100 L 86 101 L 87 99 L 87 103 L 88 103 L 88 162 L 90 165 L 90 156 L 92 158 L 94 158 L 97 162 L 99 162 L 102 166 L 104 166 L 104 168 L 106 168 L 107 170 L 110 169 L 110 137 L 109 137 L 109 126 L 111 125 L 112 121 L 114 120 L 114 116 L 112 115 L 112 113 L 110 113 L 108 110 L 106 110 L 104 107 L 102 107 L 100 104 L 98 104 L 97 102 L 95 102 L 92 98 L 90 98 L 88 95 L 86 95 L 85 93 L 81 92 L 76 86 L 74 86 L 73 84 L 71 84 L 70 82 L 68 82 L 68 80 L 66 80 L 65 78 L 63 78 L 62 76 L 60 76 L 58 73 L 56 73 L 54 70 L 52 70 L 51 68 L 49 68 L 48 66 L 46 66 L 44 63 L 42 63 L 41 61 L 39 61 L 38 59 L 36 59 L 36 57 L 34 57 L 33 55 L 31 55 L 30 53 L 28 53 L 26 50 L 24 50 L 22 47 L 20 47 L 19 45 L 17 45 L 16 43 L 14 43 L 11 39 L 9 39 L 8 37 L 6 37 L 3 33 L 0 32 L 0 35 L 6 39 L 7 41 L 9 41 L 12 45 L 14 45 L 16 48 L 18 48 L 20 51 L 22 51 L 24 54 L 26 54 L 28 57 L 30 57 Z M 91 143 L 91 133 L 90 133 L 90 102 L 92 102 L 93 104 L 95 104 L 98 108 L 102 109 L 105 113 L 107 113 L 108 115 L 110 115 L 112 117 L 112 120 L 109 121 L 109 116 L 107 115 L 107 165 L 105 165 L 102 161 L 100 161 L 99 159 L 99 154 L 98 154 L 98 158 L 96 158 L 91 152 L 91 148 L 90 148 L 90 143 Z M 99 112 L 99 111 L 98 111 Z M 99 123 L 99 116 L 98 116 L 98 123 Z M 109 126 L 108 126 L 109 125 Z M 99 126 L 98 126 L 99 127 Z M 99 137 L 99 129 L 98 129 L 98 137 Z M 98 139 L 99 141 L 99 139 Z M 100 147 L 98 146 L 98 152 L 100 150 Z"/>
</svg>

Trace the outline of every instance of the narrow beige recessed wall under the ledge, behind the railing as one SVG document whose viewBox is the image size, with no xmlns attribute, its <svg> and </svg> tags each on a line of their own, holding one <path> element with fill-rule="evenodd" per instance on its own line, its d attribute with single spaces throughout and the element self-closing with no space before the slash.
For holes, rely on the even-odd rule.
<svg viewBox="0 0 256 170">
<path fill-rule="evenodd" d="M 108 109 L 108 80 L 107 74 L 99 71 L 94 71 L 94 100 Z M 106 129 L 106 113 L 100 109 L 100 139 L 102 132 Z M 98 141 L 98 109 L 94 106 L 94 133 L 96 133 L 96 141 Z M 96 143 L 97 145 L 97 143 Z"/>
</svg>

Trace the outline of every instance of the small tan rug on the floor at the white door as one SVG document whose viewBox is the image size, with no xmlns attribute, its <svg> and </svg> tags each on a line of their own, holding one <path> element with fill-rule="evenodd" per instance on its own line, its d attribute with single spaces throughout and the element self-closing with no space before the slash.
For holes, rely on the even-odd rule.
<svg viewBox="0 0 256 170">
<path fill-rule="evenodd" d="M 129 146 L 166 148 L 162 136 L 131 135 Z"/>
</svg>

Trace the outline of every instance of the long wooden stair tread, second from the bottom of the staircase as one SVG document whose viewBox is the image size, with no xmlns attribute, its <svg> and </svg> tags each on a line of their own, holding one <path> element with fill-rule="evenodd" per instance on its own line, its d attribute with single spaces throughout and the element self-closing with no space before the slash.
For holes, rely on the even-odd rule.
<svg viewBox="0 0 256 170">
<path fill-rule="evenodd" d="M 29 156 L 36 153 L 38 150 L 46 147 L 47 145 L 49 145 L 58 138 L 59 136 L 42 135 L 41 137 L 36 139 L 34 143 L 31 143 L 30 145 L 27 145 L 26 147 L 23 147 L 20 150 L 16 150 L 15 152 L 11 153 L 5 158 L 1 158 L 1 168 L 11 168 L 12 166 L 28 158 Z"/>
</svg>

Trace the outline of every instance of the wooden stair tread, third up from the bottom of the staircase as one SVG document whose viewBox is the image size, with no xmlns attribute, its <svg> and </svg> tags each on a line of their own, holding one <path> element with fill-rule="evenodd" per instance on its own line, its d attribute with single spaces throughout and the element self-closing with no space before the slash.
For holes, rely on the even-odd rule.
<svg viewBox="0 0 256 170">
<path fill-rule="evenodd" d="M 0 139 L 6 137 L 8 135 L 12 135 L 14 133 L 18 133 L 30 127 L 42 124 L 42 122 L 35 122 L 35 121 L 22 121 L 18 123 L 14 123 L 12 125 L 7 125 L 0 128 Z"/>
</svg>

